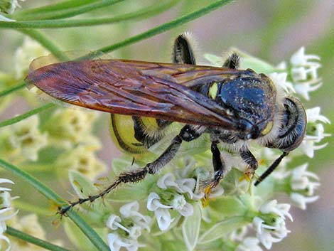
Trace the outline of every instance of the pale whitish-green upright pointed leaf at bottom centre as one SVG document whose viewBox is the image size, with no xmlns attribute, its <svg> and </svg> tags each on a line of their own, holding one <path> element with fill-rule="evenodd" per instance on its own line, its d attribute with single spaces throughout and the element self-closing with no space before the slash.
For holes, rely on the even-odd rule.
<svg viewBox="0 0 334 251">
<path fill-rule="evenodd" d="M 200 221 L 202 219 L 200 204 L 193 205 L 194 213 L 185 217 L 182 225 L 183 239 L 188 251 L 195 250 L 200 235 Z"/>
</svg>

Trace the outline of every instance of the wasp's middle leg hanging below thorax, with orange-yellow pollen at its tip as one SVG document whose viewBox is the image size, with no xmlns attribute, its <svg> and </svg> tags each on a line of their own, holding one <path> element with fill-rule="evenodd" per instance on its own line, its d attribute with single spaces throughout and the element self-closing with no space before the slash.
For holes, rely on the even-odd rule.
<svg viewBox="0 0 334 251">
<path fill-rule="evenodd" d="M 220 156 L 220 150 L 217 144 L 218 141 L 211 142 L 212 166 L 214 172 L 213 172 L 213 178 L 209 181 L 205 181 L 205 188 L 204 188 L 205 196 L 203 198 L 204 203 L 205 201 L 208 201 L 212 188 L 215 188 L 220 183 L 220 180 L 224 176 L 225 163 Z"/>
</svg>

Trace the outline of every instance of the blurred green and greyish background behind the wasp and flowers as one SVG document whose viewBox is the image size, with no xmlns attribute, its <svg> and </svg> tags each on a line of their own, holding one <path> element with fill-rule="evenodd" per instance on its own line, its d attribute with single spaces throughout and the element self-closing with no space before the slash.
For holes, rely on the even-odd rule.
<svg viewBox="0 0 334 251">
<path fill-rule="evenodd" d="M 43 6 L 57 1 L 20 2 L 22 9 Z M 150 6 L 155 1 L 123 1 L 109 8 L 93 11 L 85 16 L 114 16 Z M 147 31 L 158 24 L 170 21 L 214 1 L 179 1 L 169 11 L 143 20 L 126 21 L 104 26 L 83 28 L 59 28 L 42 30 L 63 50 L 95 50 L 137 33 Z M 301 46 L 306 52 L 321 57 L 323 87 L 311 93 L 306 107 L 320 106 L 322 114 L 334 122 L 334 1 L 333 0 L 236 0 L 221 9 L 178 26 L 153 38 L 126 46 L 111 53 L 114 58 L 131 58 L 169 62 L 173 38 L 183 31 L 190 31 L 198 40 L 201 53 L 222 55 L 230 47 L 237 47 L 259 58 L 278 64 L 288 60 L 291 53 Z M 0 70 L 11 72 L 14 51 L 23 41 L 22 33 L 0 29 Z M 9 112 L 1 119 L 20 114 L 27 108 L 20 100 L 14 100 Z M 333 134 L 333 124 L 325 127 Z M 100 156 L 107 164 L 119 152 L 114 149 L 105 127 L 99 134 L 104 141 Z M 308 205 L 306 211 L 292 209 L 293 223 L 288 223 L 291 234 L 272 250 L 320 251 L 334 250 L 334 161 L 333 137 L 324 140 L 325 149 L 316 151 L 308 161 L 311 171 L 320 176 L 320 199 Z"/>
</svg>

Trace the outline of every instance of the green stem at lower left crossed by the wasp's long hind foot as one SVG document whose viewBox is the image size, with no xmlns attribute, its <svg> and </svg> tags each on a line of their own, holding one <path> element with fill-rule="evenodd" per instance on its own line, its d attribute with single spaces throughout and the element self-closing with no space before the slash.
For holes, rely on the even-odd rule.
<svg viewBox="0 0 334 251">
<path fill-rule="evenodd" d="M 0 159 L 0 166 L 2 166 L 7 171 L 11 171 L 11 173 L 14 173 L 16 176 L 23 178 L 24 181 L 31 184 L 31 186 L 36 188 L 37 191 L 45 196 L 45 198 L 48 198 L 48 200 L 50 200 L 54 205 L 67 205 L 63 198 L 58 196 L 57 193 L 52 191 L 50 188 L 48 188 L 48 186 L 45 186 L 45 184 L 41 183 L 41 181 L 38 181 L 26 171 L 23 171 L 17 166 L 9 164 L 2 159 Z M 97 235 L 97 233 L 92 228 L 90 228 L 90 226 L 87 225 L 87 223 L 85 223 L 85 221 L 82 220 L 79 215 L 73 212 L 73 210 L 68 211 L 67 215 L 73 221 L 73 223 L 75 223 L 82 230 L 82 233 L 84 233 L 88 239 L 90 239 L 92 244 L 97 247 L 97 250 L 110 251 L 107 244 L 103 242 L 99 235 Z"/>
</svg>

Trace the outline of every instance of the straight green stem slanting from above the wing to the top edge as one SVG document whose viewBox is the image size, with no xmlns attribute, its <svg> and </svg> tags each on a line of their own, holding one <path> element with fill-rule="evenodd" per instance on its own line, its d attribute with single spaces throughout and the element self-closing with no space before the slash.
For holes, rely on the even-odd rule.
<svg viewBox="0 0 334 251">
<path fill-rule="evenodd" d="M 177 18 L 173 21 L 163 23 L 161 26 L 156 26 L 155 28 L 152 28 L 149 31 L 145 31 L 136 36 L 132 36 L 131 38 L 126 38 L 124 41 L 121 41 L 119 43 L 114 43 L 111 46 L 106 46 L 106 47 L 100 48 L 99 50 L 95 50 L 92 53 L 87 54 L 85 58 L 94 58 L 96 55 L 100 55 L 101 52 L 109 53 L 112 50 L 117 50 L 124 46 L 129 46 L 132 43 L 143 41 L 144 39 L 151 38 L 152 36 L 156 36 L 157 34 L 163 33 L 165 31 L 169 31 L 172 28 L 175 28 L 176 26 L 181 26 L 182 24 L 188 23 L 189 21 L 192 21 L 195 18 L 204 16 L 205 14 L 208 14 L 209 12 L 214 11 L 215 9 L 218 9 L 220 6 L 228 4 L 231 1 L 232 0 L 215 1 L 213 4 L 209 4 L 208 6 L 205 6 L 204 8 L 199 9 L 198 11 L 194 11 L 185 16 L 181 16 L 181 18 Z"/>
</svg>

